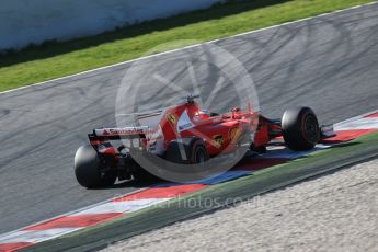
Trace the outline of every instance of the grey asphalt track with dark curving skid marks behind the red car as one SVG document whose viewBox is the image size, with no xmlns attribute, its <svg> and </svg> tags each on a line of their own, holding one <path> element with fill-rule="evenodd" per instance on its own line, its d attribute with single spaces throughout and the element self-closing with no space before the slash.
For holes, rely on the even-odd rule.
<svg viewBox="0 0 378 252">
<path fill-rule="evenodd" d="M 286 107 L 307 105 L 322 123 L 336 123 L 378 106 L 377 34 L 378 4 L 374 4 L 215 44 L 248 69 L 267 116 L 279 117 Z M 203 54 L 201 47 L 193 47 L 138 61 L 133 69 L 145 84 L 139 108 L 157 108 L 177 96 L 156 84 L 151 78 L 156 72 L 191 90 L 183 55 L 192 57 L 201 93 L 208 95 L 214 89 L 208 83 L 219 76 L 196 61 Z M 0 233 L 142 186 L 128 182 L 89 191 L 78 185 L 72 170 L 85 134 L 115 125 L 115 98 L 130 66 L 0 94 Z M 233 105 L 231 93 L 234 85 L 226 81 L 214 106 Z"/>
</svg>

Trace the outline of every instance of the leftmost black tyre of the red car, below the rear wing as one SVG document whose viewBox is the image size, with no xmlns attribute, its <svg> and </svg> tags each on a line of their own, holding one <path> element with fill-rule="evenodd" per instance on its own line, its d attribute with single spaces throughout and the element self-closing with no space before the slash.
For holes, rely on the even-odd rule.
<svg viewBox="0 0 378 252">
<path fill-rule="evenodd" d="M 111 186 L 117 175 L 115 172 L 102 172 L 103 163 L 92 146 L 85 145 L 75 154 L 75 175 L 80 185 L 87 188 Z"/>
</svg>

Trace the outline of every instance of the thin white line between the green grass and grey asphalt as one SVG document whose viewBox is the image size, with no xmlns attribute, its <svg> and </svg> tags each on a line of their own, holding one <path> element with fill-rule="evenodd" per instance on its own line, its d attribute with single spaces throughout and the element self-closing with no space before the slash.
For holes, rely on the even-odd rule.
<svg viewBox="0 0 378 252">
<path fill-rule="evenodd" d="M 283 24 L 276 24 L 276 25 L 273 25 L 273 26 L 264 27 L 264 28 L 259 28 L 259 30 L 254 30 L 254 31 L 250 31 L 250 32 L 245 32 L 245 33 L 240 33 L 240 34 L 232 35 L 232 36 L 229 36 L 229 37 L 218 38 L 218 39 L 214 39 L 214 41 L 209 41 L 209 42 L 205 42 L 205 43 L 201 43 L 201 44 L 185 46 L 185 47 L 179 48 L 179 49 L 168 50 L 168 51 L 163 51 L 163 53 L 159 53 L 159 54 L 154 54 L 154 55 L 150 55 L 150 56 L 145 56 L 145 57 L 140 57 L 140 58 L 136 58 L 136 59 L 131 59 L 131 60 L 126 60 L 126 61 L 123 61 L 123 62 L 108 65 L 106 67 L 95 68 L 95 69 L 92 69 L 92 70 L 82 71 L 82 72 L 79 72 L 79 73 L 75 73 L 75 75 L 70 75 L 70 76 L 66 76 L 66 77 L 60 77 L 60 78 L 43 81 L 43 82 L 35 83 L 35 84 L 30 84 L 30 85 L 16 88 L 16 89 L 11 89 L 11 90 L 7 90 L 7 91 L 2 91 L 2 92 L 0 92 L 0 94 L 5 94 L 5 93 L 13 92 L 13 91 L 19 91 L 19 90 L 23 90 L 23 89 L 27 89 L 27 88 L 32 88 L 32 87 L 36 87 L 36 85 L 42 85 L 42 84 L 46 84 L 46 83 L 51 83 L 51 82 L 55 82 L 55 81 L 65 80 L 65 79 L 68 79 L 68 78 L 78 77 L 78 76 L 90 73 L 90 72 L 95 72 L 95 71 L 100 71 L 100 70 L 104 70 L 104 69 L 108 69 L 108 68 L 113 68 L 113 67 L 123 66 L 123 65 L 126 65 L 126 64 L 130 64 L 130 62 L 135 62 L 135 61 L 138 61 L 138 60 L 142 60 L 142 59 L 149 59 L 149 58 L 158 57 L 158 56 L 161 56 L 161 55 L 172 54 L 172 53 L 175 53 L 175 51 L 185 50 L 185 49 L 193 48 L 193 47 L 198 47 L 201 45 L 206 45 L 206 44 L 211 44 L 211 43 L 216 43 L 216 42 L 220 42 L 220 41 L 226 41 L 226 39 L 229 39 L 229 38 L 240 37 L 240 36 L 244 36 L 244 35 L 248 35 L 248 34 L 259 33 L 259 32 L 262 32 L 262 31 L 271 30 L 271 28 L 276 28 L 276 27 L 280 27 L 280 26 L 285 26 L 285 25 L 289 25 L 289 24 L 300 23 L 300 22 L 303 22 L 303 21 L 309 21 L 309 20 L 313 20 L 313 19 L 318 19 L 318 18 L 323 18 L 323 16 L 328 16 L 328 15 L 332 15 L 332 14 L 336 14 L 336 13 L 341 13 L 341 12 L 345 12 L 345 11 L 350 11 L 350 10 L 354 10 L 354 9 L 359 9 L 359 8 L 363 8 L 363 7 L 374 5 L 374 4 L 378 4 L 378 2 L 370 2 L 370 3 L 366 3 L 366 4 L 359 4 L 359 5 L 355 5 L 355 7 L 352 7 L 352 8 L 342 9 L 342 10 L 337 10 L 337 11 L 333 11 L 333 12 L 328 12 L 328 13 L 323 13 L 323 14 L 316 15 L 316 16 L 309 16 L 309 18 L 305 18 L 305 19 L 300 19 L 300 20 L 296 20 L 296 21 L 291 21 L 291 22 L 286 22 L 286 23 L 283 23 Z"/>
</svg>

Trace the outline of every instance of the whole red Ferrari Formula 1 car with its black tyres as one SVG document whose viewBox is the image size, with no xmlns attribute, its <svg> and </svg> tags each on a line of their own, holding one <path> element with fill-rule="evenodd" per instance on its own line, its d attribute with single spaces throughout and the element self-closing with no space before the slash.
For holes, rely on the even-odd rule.
<svg viewBox="0 0 378 252">
<path fill-rule="evenodd" d="M 75 157 L 78 182 L 84 187 L 98 187 L 110 186 L 116 179 L 144 180 L 149 173 L 134 160 L 133 152 L 193 164 L 232 153 L 240 146 L 265 152 L 274 139 L 282 137 L 293 150 L 309 150 L 333 135 L 332 129 L 325 131 L 319 126 L 308 107 L 287 110 L 282 121 L 272 121 L 250 107 L 209 113 L 194 99 L 190 95 L 164 111 L 138 114 L 135 126 L 94 129 L 89 134 L 90 145 L 80 147 Z"/>
</svg>

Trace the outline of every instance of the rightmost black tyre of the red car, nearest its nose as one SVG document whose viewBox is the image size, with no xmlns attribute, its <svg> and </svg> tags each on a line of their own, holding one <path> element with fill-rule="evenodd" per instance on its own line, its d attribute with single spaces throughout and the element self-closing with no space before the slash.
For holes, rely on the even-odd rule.
<svg viewBox="0 0 378 252">
<path fill-rule="evenodd" d="M 309 107 L 289 108 L 284 113 L 282 130 L 291 150 L 310 150 L 320 139 L 318 118 Z"/>
</svg>

